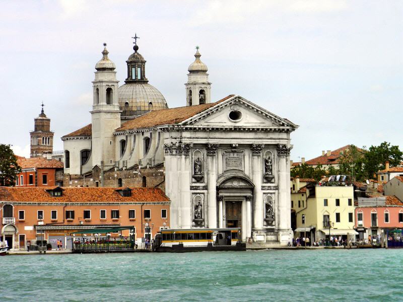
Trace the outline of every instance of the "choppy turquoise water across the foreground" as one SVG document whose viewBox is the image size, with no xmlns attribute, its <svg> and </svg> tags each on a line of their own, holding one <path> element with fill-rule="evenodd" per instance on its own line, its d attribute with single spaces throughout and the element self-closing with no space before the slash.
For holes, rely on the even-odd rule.
<svg viewBox="0 0 403 302">
<path fill-rule="evenodd" d="M 1 301 L 390 301 L 403 250 L 0 257 Z"/>
</svg>

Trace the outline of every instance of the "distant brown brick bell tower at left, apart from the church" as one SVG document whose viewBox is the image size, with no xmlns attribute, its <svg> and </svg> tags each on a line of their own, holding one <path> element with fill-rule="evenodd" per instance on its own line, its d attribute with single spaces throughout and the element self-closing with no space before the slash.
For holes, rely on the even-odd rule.
<svg viewBox="0 0 403 302">
<path fill-rule="evenodd" d="M 31 136 L 31 158 L 41 157 L 53 152 L 53 132 L 50 131 L 50 118 L 43 112 L 35 118 L 34 130 L 29 132 Z"/>
</svg>

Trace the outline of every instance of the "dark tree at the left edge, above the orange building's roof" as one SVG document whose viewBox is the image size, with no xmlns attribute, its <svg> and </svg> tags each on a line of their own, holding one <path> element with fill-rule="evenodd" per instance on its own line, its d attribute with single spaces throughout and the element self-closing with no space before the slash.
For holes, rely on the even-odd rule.
<svg viewBox="0 0 403 302">
<path fill-rule="evenodd" d="M 10 145 L 0 144 L 0 185 L 13 186 L 21 167 Z"/>
</svg>

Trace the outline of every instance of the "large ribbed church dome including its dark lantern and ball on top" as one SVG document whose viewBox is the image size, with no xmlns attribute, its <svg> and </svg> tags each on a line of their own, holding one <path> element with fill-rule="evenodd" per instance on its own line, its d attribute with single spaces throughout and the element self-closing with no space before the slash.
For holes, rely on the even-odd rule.
<svg viewBox="0 0 403 302">
<path fill-rule="evenodd" d="M 121 119 L 127 120 L 145 114 L 151 110 L 168 108 L 164 96 L 157 88 L 148 84 L 146 78 L 146 60 L 138 52 L 139 46 L 135 35 L 133 52 L 127 59 L 127 79 L 119 87 L 119 107 Z"/>
</svg>

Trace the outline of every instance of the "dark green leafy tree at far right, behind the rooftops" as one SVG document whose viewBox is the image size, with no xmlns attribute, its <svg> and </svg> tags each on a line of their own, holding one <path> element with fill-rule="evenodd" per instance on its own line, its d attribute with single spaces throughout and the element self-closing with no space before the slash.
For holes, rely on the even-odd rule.
<svg viewBox="0 0 403 302">
<path fill-rule="evenodd" d="M 379 170 L 385 169 L 388 161 L 390 167 L 395 167 L 403 160 L 403 152 L 399 146 L 390 145 L 389 142 L 382 142 L 379 146 L 370 146 L 364 156 L 364 171 L 367 178 L 372 178 Z"/>
</svg>

